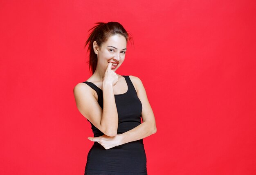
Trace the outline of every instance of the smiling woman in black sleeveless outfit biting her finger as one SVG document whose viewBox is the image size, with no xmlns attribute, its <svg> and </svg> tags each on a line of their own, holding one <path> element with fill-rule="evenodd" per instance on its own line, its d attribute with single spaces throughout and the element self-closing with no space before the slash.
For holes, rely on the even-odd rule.
<svg viewBox="0 0 256 175">
<path fill-rule="evenodd" d="M 92 76 L 74 87 L 76 106 L 94 133 L 85 175 L 147 175 L 143 138 L 156 132 L 155 117 L 141 80 L 115 73 L 130 37 L 118 22 L 90 30 L 85 46 Z"/>
</svg>

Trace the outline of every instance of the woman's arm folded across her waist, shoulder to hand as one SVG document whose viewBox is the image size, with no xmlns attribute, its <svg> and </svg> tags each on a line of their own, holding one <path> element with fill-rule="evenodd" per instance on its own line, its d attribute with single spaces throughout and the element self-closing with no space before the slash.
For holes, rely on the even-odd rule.
<svg viewBox="0 0 256 175">
<path fill-rule="evenodd" d="M 132 75 L 130 75 L 129 77 L 134 87 L 137 89 L 137 95 L 142 104 L 141 117 L 143 123 L 139 124 L 139 126 L 127 132 L 118 134 L 115 137 L 110 137 L 107 135 L 103 135 L 100 137 L 88 137 L 88 139 L 90 139 L 91 141 L 97 141 L 105 149 L 126 144 L 131 141 L 143 139 L 157 132 L 155 116 L 148 101 L 144 85 L 142 84 L 141 80 L 138 77 Z"/>
</svg>

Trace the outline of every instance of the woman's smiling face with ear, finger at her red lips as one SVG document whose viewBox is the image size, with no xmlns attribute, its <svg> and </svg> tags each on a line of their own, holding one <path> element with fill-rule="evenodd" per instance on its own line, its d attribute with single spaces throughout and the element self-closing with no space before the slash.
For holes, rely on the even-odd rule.
<svg viewBox="0 0 256 175">
<path fill-rule="evenodd" d="M 126 44 L 126 38 L 121 35 L 110 36 L 101 47 L 98 47 L 96 41 L 94 41 L 94 52 L 98 56 L 97 67 L 106 70 L 108 63 L 112 62 L 112 70 L 115 72 L 124 62 Z"/>
</svg>

